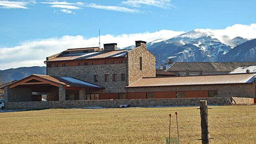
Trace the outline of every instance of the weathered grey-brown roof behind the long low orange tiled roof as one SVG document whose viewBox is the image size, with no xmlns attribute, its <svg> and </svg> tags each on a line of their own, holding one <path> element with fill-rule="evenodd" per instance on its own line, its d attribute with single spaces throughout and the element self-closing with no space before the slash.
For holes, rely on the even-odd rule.
<svg viewBox="0 0 256 144">
<path fill-rule="evenodd" d="M 244 65 L 256 65 L 256 62 L 175 62 L 167 71 L 207 71 L 207 72 L 231 72 Z"/>
</svg>

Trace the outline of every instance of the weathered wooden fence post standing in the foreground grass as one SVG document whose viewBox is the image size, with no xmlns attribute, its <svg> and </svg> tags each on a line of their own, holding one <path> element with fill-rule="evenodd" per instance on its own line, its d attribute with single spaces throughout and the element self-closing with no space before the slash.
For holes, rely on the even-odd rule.
<svg viewBox="0 0 256 144">
<path fill-rule="evenodd" d="M 207 113 L 207 101 L 200 100 L 200 116 L 201 116 L 201 135 L 202 144 L 209 144 L 209 129 L 208 129 L 208 113 Z"/>
</svg>

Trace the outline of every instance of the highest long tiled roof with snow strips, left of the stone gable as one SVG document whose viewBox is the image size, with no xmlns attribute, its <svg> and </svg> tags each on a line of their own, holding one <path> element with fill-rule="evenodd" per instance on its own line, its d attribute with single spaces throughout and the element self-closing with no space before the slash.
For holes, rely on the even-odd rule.
<svg viewBox="0 0 256 144">
<path fill-rule="evenodd" d="M 97 51 L 97 52 L 76 53 L 76 54 L 63 54 L 63 55 L 57 56 L 56 58 L 49 59 L 45 62 L 124 57 L 127 55 L 126 53 L 127 51 L 129 51 L 129 49 L 114 50 L 114 51 Z"/>
</svg>

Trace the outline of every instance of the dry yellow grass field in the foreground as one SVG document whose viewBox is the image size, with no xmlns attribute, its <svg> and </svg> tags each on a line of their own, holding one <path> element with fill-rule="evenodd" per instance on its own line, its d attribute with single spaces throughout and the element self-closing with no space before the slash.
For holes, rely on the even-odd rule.
<svg viewBox="0 0 256 144">
<path fill-rule="evenodd" d="M 199 107 L 47 109 L 0 113 L 0 143 L 165 143 L 179 112 L 181 143 L 201 143 Z M 256 143 L 256 106 L 210 106 L 211 143 Z M 172 136 L 176 136 L 175 117 Z"/>
</svg>

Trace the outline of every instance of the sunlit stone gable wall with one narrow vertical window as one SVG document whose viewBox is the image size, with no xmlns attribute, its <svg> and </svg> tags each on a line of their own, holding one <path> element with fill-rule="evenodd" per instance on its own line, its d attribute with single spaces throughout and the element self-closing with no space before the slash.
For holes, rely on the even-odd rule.
<svg viewBox="0 0 256 144">
<path fill-rule="evenodd" d="M 142 57 L 142 70 L 140 70 Z M 128 83 L 133 83 L 142 77 L 156 76 L 156 58 L 144 47 L 136 47 L 128 51 Z"/>
</svg>

